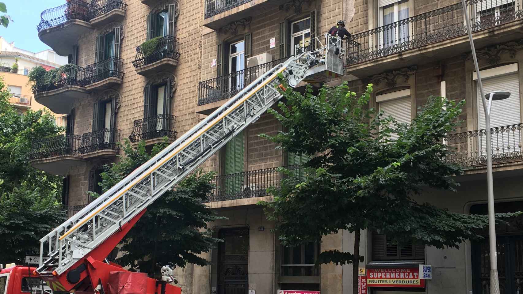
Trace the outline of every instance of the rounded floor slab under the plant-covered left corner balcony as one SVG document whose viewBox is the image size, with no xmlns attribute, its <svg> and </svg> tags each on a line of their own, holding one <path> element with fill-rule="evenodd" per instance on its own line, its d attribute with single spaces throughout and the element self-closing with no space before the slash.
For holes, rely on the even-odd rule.
<svg viewBox="0 0 523 294">
<path fill-rule="evenodd" d="M 88 96 L 88 91 L 81 86 L 65 86 L 55 90 L 38 92 L 35 100 L 58 114 L 69 114 L 75 99 Z"/>
</svg>

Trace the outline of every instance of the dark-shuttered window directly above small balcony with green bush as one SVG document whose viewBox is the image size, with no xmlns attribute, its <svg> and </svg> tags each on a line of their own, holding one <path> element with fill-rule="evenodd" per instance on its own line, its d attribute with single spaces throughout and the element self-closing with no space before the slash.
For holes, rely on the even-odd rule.
<svg viewBox="0 0 523 294">
<path fill-rule="evenodd" d="M 147 40 L 156 37 L 174 36 L 176 4 L 164 5 L 160 11 L 147 17 Z"/>
</svg>

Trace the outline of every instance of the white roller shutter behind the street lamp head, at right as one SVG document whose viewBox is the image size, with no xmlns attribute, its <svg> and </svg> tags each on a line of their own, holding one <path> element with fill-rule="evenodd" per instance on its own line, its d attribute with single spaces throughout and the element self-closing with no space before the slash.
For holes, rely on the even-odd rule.
<svg viewBox="0 0 523 294">
<path fill-rule="evenodd" d="M 519 101 L 519 78 L 518 73 L 512 73 L 508 75 L 502 75 L 497 77 L 492 77 L 488 79 L 482 79 L 483 82 L 483 92 L 485 95 L 494 91 L 508 91 L 510 92 L 510 97 L 505 100 L 492 101 L 491 109 L 491 128 L 497 126 L 507 126 L 513 124 L 519 124 L 521 122 L 521 111 L 520 111 L 520 101 Z M 481 101 L 481 94 L 479 88 L 477 88 L 477 110 L 479 114 L 479 129 L 483 130 L 485 128 L 485 113 L 483 111 L 483 102 Z M 488 103 L 488 101 L 487 101 Z M 519 132 L 519 131 L 516 131 Z M 519 137 L 519 134 L 516 134 Z M 492 150 L 496 154 L 496 148 L 502 148 L 501 145 L 509 144 L 508 142 L 497 142 L 499 135 L 492 134 Z M 486 137 L 481 137 L 480 144 L 480 155 L 485 154 L 486 150 Z M 513 145 L 514 142 L 511 142 L 510 145 Z M 517 143 L 519 144 L 519 143 Z M 506 146 L 505 146 L 506 147 Z"/>
</svg>

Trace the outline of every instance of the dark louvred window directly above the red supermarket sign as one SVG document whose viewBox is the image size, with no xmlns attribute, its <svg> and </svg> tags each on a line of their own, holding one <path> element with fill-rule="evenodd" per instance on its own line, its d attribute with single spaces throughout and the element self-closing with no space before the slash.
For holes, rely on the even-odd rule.
<svg viewBox="0 0 523 294">
<path fill-rule="evenodd" d="M 372 232 L 372 261 L 386 260 L 425 260 L 425 246 L 410 241 L 400 247 L 385 234 Z"/>
</svg>

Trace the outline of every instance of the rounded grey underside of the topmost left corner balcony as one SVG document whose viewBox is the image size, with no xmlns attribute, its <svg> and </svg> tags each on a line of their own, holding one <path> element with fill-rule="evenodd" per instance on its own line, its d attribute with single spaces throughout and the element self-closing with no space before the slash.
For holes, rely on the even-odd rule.
<svg viewBox="0 0 523 294">
<path fill-rule="evenodd" d="M 71 19 L 60 25 L 52 26 L 38 32 L 38 38 L 44 44 L 51 47 L 56 54 L 67 56 L 72 47 L 78 42 L 78 36 L 82 36 L 94 28 L 84 20 Z"/>
</svg>

